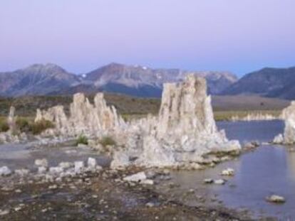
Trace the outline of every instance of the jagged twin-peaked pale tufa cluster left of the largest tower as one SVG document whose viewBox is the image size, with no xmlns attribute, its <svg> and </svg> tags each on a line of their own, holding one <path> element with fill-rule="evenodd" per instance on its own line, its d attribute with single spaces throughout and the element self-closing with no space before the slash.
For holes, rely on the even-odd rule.
<svg viewBox="0 0 295 221">
<path fill-rule="evenodd" d="M 47 134 L 61 136 L 78 136 L 98 134 L 119 128 L 125 122 L 118 117 L 115 107 L 108 107 L 102 93 L 98 93 L 91 104 L 85 95 L 73 95 L 70 106 L 70 116 L 67 117 L 63 106 L 51 107 L 47 111 L 37 110 L 35 122 L 48 120 L 55 124 L 54 129 L 48 129 Z"/>
</svg>

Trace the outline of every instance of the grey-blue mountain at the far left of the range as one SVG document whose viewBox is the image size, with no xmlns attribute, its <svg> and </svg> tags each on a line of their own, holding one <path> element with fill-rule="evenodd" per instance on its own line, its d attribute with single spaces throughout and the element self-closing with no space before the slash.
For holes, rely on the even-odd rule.
<svg viewBox="0 0 295 221">
<path fill-rule="evenodd" d="M 0 72 L 0 95 L 47 95 L 80 82 L 78 76 L 66 72 L 58 65 L 31 65 L 14 72 Z"/>
</svg>

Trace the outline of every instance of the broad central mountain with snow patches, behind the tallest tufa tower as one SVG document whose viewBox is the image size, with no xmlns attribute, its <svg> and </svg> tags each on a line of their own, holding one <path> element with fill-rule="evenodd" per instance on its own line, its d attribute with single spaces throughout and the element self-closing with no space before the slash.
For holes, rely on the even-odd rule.
<svg viewBox="0 0 295 221">
<path fill-rule="evenodd" d="M 207 79 L 208 91 L 218 94 L 237 81 L 229 72 L 192 72 L 179 69 L 151 69 L 142 66 L 111 63 L 86 74 L 84 83 L 107 92 L 138 97 L 160 97 L 165 82 L 180 82 L 192 73 Z"/>
</svg>

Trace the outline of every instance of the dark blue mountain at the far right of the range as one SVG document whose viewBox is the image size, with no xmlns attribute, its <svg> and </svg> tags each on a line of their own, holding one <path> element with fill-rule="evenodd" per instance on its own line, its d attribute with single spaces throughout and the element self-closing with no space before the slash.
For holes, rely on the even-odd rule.
<svg viewBox="0 0 295 221">
<path fill-rule="evenodd" d="M 295 99 L 295 67 L 264 68 L 244 75 L 222 95 L 259 95 Z"/>
</svg>

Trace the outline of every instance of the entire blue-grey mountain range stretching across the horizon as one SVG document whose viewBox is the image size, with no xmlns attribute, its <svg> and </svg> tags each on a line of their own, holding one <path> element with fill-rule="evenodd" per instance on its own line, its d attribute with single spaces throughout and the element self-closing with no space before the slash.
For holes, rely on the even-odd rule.
<svg viewBox="0 0 295 221">
<path fill-rule="evenodd" d="M 76 75 L 54 64 L 36 64 L 0 72 L 0 96 L 72 95 L 113 92 L 136 97 L 160 97 L 165 82 L 180 82 L 186 75 L 205 77 L 211 95 L 254 95 L 295 99 L 295 67 L 263 68 L 238 80 L 231 72 L 152 69 L 110 63 Z"/>
</svg>

